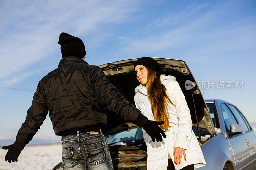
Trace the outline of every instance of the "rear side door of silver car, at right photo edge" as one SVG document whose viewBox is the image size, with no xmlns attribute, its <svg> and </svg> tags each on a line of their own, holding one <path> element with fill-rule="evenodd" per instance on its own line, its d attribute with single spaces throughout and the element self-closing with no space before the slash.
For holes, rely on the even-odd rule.
<svg viewBox="0 0 256 170">
<path fill-rule="evenodd" d="M 252 151 L 252 157 L 251 157 L 251 162 L 256 160 L 256 134 L 251 128 L 250 124 L 242 114 L 242 112 L 235 106 L 228 104 L 228 107 L 231 109 L 231 111 L 234 113 L 236 117 L 238 117 L 238 122 L 241 122 L 241 125 L 243 129 L 245 129 L 245 134 L 247 136 L 247 143 L 251 147 Z M 256 162 L 254 161 L 254 166 L 256 165 Z"/>
</svg>

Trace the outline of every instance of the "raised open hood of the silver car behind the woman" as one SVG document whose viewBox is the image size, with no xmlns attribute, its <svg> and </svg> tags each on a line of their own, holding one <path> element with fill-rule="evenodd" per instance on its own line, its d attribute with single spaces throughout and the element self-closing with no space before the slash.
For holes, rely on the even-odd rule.
<svg viewBox="0 0 256 170">
<path fill-rule="evenodd" d="M 188 65 L 182 60 L 154 58 L 162 68 L 162 74 L 172 75 L 178 81 L 180 88 L 185 95 L 186 101 L 191 114 L 192 126 L 197 127 L 197 122 L 200 129 L 209 131 L 213 136 L 216 135 L 212 119 L 206 107 L 204 98 L 200 89 L 197 89 L 197 83 L 188 68 Z M 128 59 L 116 61 L 100 65 L 107 78 L 111 83 L 123 94 L 124 98 L 133 105 L 134 89 L 140 83 L 136 79 L 134 73 L 134 63 L 137 59 Z M 190 80 L 193 82 L 193 88 L 186 90 L 185 82 Z M 120 119 L 115 113 L 108 113 L 107 126 L 103 128 L 104 134 L 113 135 L 121 131 L 136 126 L 128 121 Z"/>
</svg>

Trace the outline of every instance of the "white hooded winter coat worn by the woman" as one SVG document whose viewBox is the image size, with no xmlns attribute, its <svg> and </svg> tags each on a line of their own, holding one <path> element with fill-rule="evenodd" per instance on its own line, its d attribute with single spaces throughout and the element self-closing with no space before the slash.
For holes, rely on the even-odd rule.
<svg viewBox="0 0 256 170">
<path fill-rule="evenodd" d="M 175 105 L 168 105 L 169 125 L 173 127 L 169 128 L 169 131 L 164 132 L 166 138 L 163 138 L 162 142 L 153 142 L 151 137 L 142 128 L 143 137 L 148 148 L 147 169 L 166 170 L 168 158 L 171 158 L 174 164 L 174 147 L 185 149 L 187 157 L 187 161 L 185 161 L 182 155 L 180 164 L 174 164 L 176 170 L 191 164 L 195 164 L 195 168 L 205 166 L 204 155 L 192 130 L 190 111 L 179 83 L 174 76 L 162 74 L 160 79 L 167 89 L 170 100 Z M 141 84 L 135 88 L 135 105 L 148 120 L 155 121 L 147 92 L 147 88 Z"/>
</svg>

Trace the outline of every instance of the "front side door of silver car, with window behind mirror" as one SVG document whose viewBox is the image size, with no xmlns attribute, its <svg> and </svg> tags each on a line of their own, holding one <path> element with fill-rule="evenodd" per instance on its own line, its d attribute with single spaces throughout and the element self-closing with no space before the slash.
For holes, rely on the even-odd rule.
<svg viewBox="0 0 256 170">
<path fill-rule="evenodd" d="M 225 103 L 220 104 L 220 108 L 222 111 L 222 115 L 224 118 L 226 131 L 229 137 L 229 142 L 232 146 L 235 159 L 236 159 L 236 168 L 240 169 L 251 162 L 251 148 L 246 144 L 246 140 L 248 139 L 246 134 L 241 133 L 238 135 L 231 135 L 230 133 L 230 124 L 239 124 L 236 120 L 235 116 L 232 114 L 231 110 Z M 242 126 L 242 125 L 241 125 Z"/>
</svg>

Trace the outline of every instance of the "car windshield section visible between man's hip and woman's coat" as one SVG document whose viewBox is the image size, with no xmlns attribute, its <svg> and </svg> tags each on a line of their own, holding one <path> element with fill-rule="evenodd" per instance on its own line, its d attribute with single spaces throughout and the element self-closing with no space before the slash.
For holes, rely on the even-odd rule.
<svg viewBox="0 0 256 170">
<path fill-rule="evenodd" d="M 117 133 L 111 137 L 107 138 L 107 143 L 116 143 L 116 142 L 123 142 L 123 143 L 133 143 L 139 142 L 144 140 L 141 128 L 131 129 L 129 131 L 124 131 Z"/>
</svg>

